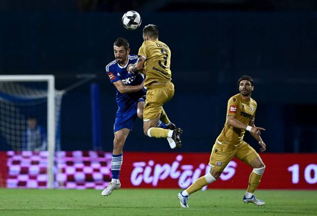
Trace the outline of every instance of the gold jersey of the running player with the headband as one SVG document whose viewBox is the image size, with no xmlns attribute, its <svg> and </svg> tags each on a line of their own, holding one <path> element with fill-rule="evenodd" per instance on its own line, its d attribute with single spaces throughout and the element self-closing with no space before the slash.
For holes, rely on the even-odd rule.
<svg viewBox="0 0 317 216">
<path fill-rule="evenodd" d="M 234 118 L 243 124 L 249 125 L 251 120 L 254 121 L 256 110 L 256 102 L 252 98 L 250 101 L 243 99 L 241 94 L 236 94 L 228 100 L 227 116 L 234 116 Z M 239 146 L 243 141 L 245 129 L 235 128 L 230 126 L 226 121 L 224 128 L 222 129 L 217 142 L 223 144 Z"/>
</svg>

